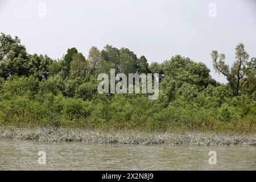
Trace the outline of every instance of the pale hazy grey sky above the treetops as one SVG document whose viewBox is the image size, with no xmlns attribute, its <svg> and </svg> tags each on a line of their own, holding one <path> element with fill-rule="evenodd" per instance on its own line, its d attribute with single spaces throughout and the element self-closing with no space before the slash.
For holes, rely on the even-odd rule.
<svg viewBox="0 0 256 182">
<path fill-rule="evenodd" d="M 217 16 L 209 16 L 210 3 Z M 90 47 L 106 44 L 127 47 L 149 63 L 180 54 L 207 64 L 225 82 L 214 73 L 210 53 L 217 49 L 232 64 L 243 42 L 256 56 L 256 1 L 0 0 L 0 32 L 18 36 L 29 53 L 53 59 L 70 47 L 87 57 Z"/>
</svg>

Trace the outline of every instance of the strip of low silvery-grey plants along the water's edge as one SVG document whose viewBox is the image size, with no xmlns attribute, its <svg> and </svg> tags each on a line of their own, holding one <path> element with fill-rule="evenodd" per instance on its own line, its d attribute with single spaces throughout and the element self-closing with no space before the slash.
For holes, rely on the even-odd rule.
<svg viewBox="0 0 256 182">
<path fill-rule="evenodd" d="M 256 134 L 202 132 L 100 131 L 54 127 L 20 128 L 0 126 L 0 139 L 25 139 L 48 142 L 88 142 L 99 144 L 166 144 L 166 145 L 253 145 Z"/>
</svg>

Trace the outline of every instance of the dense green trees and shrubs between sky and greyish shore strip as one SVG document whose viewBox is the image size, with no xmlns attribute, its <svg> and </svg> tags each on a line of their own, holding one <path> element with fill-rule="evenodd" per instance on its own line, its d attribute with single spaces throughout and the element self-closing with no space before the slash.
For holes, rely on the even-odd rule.
<svg viewBox="0 0 256 182">
<path fill-rule="evenodd" d="M 210 56 L 210 55 L 209 55 Z M 243 44 L 231 68 L 212 52 L 220 84 L 203 63 L 176 55 L 148 65 L 127 48 L 70 48 L 60 60 L 30 55 L 20 40 L 0 36 L 0 125 L 96 129 L 256 131 L 256 58 Z M 159 73 L 159 99 L 99 94 L 98 73 Z"/>
</svg>

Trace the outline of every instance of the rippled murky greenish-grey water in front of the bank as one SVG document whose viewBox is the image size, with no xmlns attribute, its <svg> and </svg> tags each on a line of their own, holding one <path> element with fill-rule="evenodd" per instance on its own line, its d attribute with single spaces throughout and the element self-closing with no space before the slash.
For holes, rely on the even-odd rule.
<svg viewBox="0 0 256 182">
<path fill-rule="evenodd" d="M 39 164 L 39 151 L 46 164 Z M 209 164 L 216 151 L 217 164 Z M 165 146 L 0 140 L 0 170 L 256 170 L 256 146 Z"/>
</svg>

